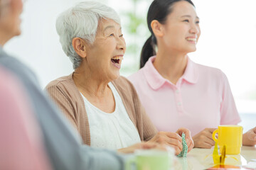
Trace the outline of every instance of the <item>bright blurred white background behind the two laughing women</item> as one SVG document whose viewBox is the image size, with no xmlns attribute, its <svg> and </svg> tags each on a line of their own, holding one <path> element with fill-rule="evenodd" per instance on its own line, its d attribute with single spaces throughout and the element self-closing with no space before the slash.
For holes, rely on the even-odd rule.
<svg viewBox="0 0 256 170">
<path fill-rule="evenodd" d="M 28 0 L 24 4 L 22 35 L 5 50 L 36 72 L 42 88 L 49 81 L 73 72 L 55 31 L 58 14 L 80 0 Z M 96 1 L 96 0 L 95 0 Z M 99 0 L 100 1 L 100 0 Z M 127 53 L 121 74 L 139 69 L 139 53 L 149 37 L 146 11 L 151 0 L 102 0 L 119 13 Z M 193 0 L 200 18 L 201 38 L 194 62 L 217 67 L 227 75 L 245 129 L 256 125 L 256 1 Z M 253 121 L 255 120 L 255 121 Z"/>
</svg>

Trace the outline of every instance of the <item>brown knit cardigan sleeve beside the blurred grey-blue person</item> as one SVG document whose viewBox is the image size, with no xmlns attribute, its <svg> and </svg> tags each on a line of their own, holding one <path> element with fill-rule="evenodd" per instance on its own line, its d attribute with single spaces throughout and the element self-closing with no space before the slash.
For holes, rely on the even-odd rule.
<svg viewBox="0 0 256 170">
<path fill-rule="evenodd" d="M 70 74 L 55 79 L 46 86 L 46 90 L 65 117 L 78 130 L 82 137 L 82 142 L 85 145 L 90 145 L 90 125 L 85 103 L 72 77 L 73 74 Z"/>
</svg>

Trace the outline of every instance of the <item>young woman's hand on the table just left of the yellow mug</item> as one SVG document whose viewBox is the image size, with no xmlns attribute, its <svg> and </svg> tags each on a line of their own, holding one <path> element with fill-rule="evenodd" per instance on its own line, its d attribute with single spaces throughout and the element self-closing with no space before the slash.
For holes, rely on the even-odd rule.
<svg viewBox="0 0 256 170">
<path fill-rule="evenodd" d="M 201 148 L 211 148 L 214 146 L 215 142 L 213 140 L 213 131 L 216 128 L 206 128 L 203 131 L 199 132 L 193 136 L 194 147 Z"/>
</svg>

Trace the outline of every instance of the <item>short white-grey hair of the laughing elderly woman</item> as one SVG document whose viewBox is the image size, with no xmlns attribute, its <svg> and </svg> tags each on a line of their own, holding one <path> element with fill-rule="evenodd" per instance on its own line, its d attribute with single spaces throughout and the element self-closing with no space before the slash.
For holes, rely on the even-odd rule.
<svg viewBox="0 0 256 170">
<path fill-rule="evenodd" d="M 121 25 L 117 12 L 97 1 L 80 2 L 58 16 L 56 30 L 60 36 L 60 44 L 74 69 L 80 66 L 82 59 L 73 48 L 73 38 L 82 38 L 92 44 L 95 41 L 98 22 L 102 18 L 112 19 Z"/>
</svg>

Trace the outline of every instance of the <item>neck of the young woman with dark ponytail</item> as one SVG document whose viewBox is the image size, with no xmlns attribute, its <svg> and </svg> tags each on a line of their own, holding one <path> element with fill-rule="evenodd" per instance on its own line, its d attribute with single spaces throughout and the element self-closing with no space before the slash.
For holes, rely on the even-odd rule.
<svg viewBox="0 0 256 170">
<path fill-rule="evenodd" d="M 176 84 L 185 72 L 187 61 L 188 57 L 185 52 L 159 48 L 154 67 L 162 77 Z"/>
</svg>

